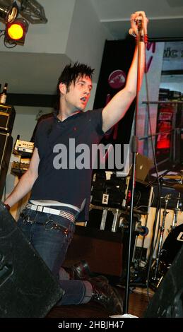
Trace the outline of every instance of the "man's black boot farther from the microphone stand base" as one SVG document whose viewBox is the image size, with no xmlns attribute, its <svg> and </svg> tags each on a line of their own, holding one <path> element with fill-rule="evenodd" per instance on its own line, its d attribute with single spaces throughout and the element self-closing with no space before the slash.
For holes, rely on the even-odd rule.
<svg viewBox="0 0 183 332">
<path fill-rule="evenodd" d="M 69 266 L 69 268 L 64 267 L 64 270 L 69 273 L 70 279 L 86 280 L 90 278 L 90 268 L 88 263 L 83 260 Z"/>
</svg>

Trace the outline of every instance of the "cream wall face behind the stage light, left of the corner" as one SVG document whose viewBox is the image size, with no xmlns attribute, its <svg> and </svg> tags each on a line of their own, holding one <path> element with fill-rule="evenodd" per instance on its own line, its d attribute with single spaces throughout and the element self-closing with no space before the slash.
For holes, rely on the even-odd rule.
<svg viewBox="0 0 183 332">
<path fill-rule="evenodd" d="M 69 35 L 69 27 L 73 16 L 76 0 L 44 0 L 41 5 L 45 9 L 46 24 L 31 24 L 25 38 L 23 47 L 8 49 L 8 52 L 33 52 L 33 53 L 65 53 Z M 19 3 L 18 3 L 19 6 Z M 0 29 L 5 25 L 0 23 Z M 6 52 L 3 42 L 0 51 Z"/>
</svg>

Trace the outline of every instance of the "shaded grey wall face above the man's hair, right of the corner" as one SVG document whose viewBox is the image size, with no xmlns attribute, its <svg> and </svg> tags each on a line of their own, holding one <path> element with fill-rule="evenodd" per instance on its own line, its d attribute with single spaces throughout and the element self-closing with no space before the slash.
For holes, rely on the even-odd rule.
<svg viewBox="0 0 183 332">
<path fill-rule="evenodd" d="M 105 40 L 113 37 L 100 23 L 90 1 L 76 0 L 66 45 L 66 54 L 73 61 L 86 63 L 95 69 L 98 81 Z"/>
</svg>

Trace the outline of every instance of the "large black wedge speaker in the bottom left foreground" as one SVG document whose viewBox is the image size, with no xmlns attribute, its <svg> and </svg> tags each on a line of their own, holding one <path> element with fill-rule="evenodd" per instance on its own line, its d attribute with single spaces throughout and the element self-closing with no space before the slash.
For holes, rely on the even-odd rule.
<svg viewBox="0 0 183 332">
<path fill-rule="evenodd" d="M 45 317 L 62 295 L 49 268 L 0 202 L 0 317 Z"/>
</svg>

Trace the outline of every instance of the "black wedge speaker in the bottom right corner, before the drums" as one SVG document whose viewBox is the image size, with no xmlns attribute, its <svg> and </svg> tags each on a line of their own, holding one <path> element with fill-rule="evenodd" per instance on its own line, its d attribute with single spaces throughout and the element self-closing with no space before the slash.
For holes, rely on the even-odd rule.
<svg viewBox="0 0 183 332">
<path fill-rule="evenodd" d="M 180 237 L 182 241 L 182 238 Z M 150 300 L 143 318 L 183 317 L 183 246 Z"/>
</svg>

